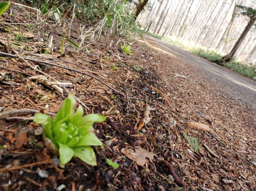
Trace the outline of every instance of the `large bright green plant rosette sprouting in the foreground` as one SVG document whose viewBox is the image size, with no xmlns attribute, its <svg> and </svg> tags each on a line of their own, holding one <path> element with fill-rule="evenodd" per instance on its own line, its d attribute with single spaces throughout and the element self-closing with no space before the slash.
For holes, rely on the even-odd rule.
<svg viewBox="0 0 256 191">
<path fill-rule="evenodd" d="M 83 117 L 84 110 L 81 105 L 75 113 L 74 95 L 68 95 L 54 120 L 47 114 L 37 113 L 33 121 L 43 127 L 45 145 L 59 152 L 62 168 L 73 156 L 95 166 L 96 156 L 90 146 L 103 148 L 103 144 L 94 134 L 92 125 L 94 122 L 103 122 L 106 117 L 99 114 L 88 114 Z"/>
</svg>

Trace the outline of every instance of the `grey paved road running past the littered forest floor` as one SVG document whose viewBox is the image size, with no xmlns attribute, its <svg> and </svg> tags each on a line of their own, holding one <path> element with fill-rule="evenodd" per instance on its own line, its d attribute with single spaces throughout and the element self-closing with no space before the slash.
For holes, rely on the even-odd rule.
<svg viewBox="0 0 256 191">
<path fill-rule="evenodd" d="M 162 40 L 153 38 L 152 36 L 147 36 L 146 42 L 154 47 L 159 47 L 164 51 L 182 57 L 192 65 L 198 67 L 201 70 L 202 75 L 208 76 L 213 81 L 216 81 L 216 85 L 221 85 L 233 97 L 244 100 L 252 105 L 252 108 L 256 108 L 255 80 L 246 78 L 223 66 L 209 62 L 200 56 L 182 50 L 181 48 L 163 42 Z"/>
</svg>

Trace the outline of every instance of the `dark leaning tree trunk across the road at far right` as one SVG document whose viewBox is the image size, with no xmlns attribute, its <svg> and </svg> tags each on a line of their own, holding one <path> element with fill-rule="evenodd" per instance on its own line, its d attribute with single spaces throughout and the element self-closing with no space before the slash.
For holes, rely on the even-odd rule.
<svg viewBox="0 0 256 191">
<path fill-rule="evenodd" d="M 237 49 L 239 48 L 239 46 L 241 45 L 242 41 L 244 40 L 246 34 L 249 32 L 250 28 L 253 26 L 253 24 L 255 23 L 256 20 L 256 15 L 254 15 L 253 17 L 251 17 L 249 23 L 247 24 L 247 26 L 244 29 L 244 32 L 241 34 L 240 38 L 237 40 L 237 42 L 235 43 L 235 46 L 232 48 L 232 50 L 230 51 L 230 53 L 224 57 L 222 57 L 223 61 L 225 62 L 229 62 L 234 54 L 235 51 L 237 51 Z"/>
</svg>

